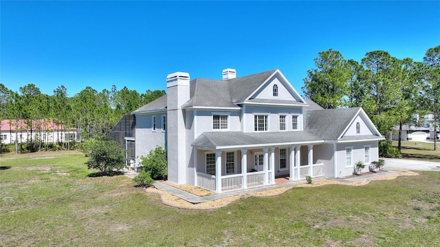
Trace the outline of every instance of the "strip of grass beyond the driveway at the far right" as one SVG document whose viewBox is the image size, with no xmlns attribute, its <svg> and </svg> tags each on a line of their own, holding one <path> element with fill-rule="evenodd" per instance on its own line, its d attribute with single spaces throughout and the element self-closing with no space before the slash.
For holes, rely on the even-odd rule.
<svg viewBox="0 0 440 247">
<path fill-rule="evenodd" d="M 397 145 L 398 142 L 393 141 L 393 146 Z M 403 158 L 440 162 L 440 141 L 437 142 L 437 151 L 434 151 L 434 142 L 402 141 L 401 147 Z"/>
</svg>

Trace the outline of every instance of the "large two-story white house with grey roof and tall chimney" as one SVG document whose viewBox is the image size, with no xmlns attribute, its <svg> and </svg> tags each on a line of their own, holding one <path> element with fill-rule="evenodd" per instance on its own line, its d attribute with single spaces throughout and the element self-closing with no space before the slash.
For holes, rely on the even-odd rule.
<svg viewBox="0 0 440 247">
<path fill-rule="evenodd" d="M 377 161 L 384 139 L 362 108 L 324 110 L 278 69 L 223 80 L 176 72 L 167 95 L 135 110 L 135 152 L 168 151 L 168 180 L 216 191 L 271 185 L 277 176 L 338 178 Z M 368 171 L 368 165 L 362 172 Z"/>
</svg>

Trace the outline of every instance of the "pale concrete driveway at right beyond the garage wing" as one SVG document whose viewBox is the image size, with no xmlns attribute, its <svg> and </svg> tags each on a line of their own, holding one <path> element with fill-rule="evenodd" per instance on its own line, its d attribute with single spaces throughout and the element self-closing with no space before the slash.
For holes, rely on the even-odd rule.
<svg viewBox="0 0 440 247">
<path fill-rule="evenodd" d="M 415 171 L 440 172 L 440 162 L 413 161 L 402 158 L 384 158 L 384 169 L 408 169 Z"/>
</svg>

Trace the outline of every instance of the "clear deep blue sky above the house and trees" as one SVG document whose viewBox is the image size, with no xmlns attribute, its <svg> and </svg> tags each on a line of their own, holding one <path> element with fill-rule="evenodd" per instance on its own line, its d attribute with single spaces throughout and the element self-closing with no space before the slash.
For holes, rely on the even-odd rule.
<svg viewBox="0 0 440 247">
<path fill-rule="evenodd" d="M 0 83 L 143 93 L 175 71 L 280 69 L 301 91 L 330 48 L 421 61 L 440 45 L 439 16 L 440 1 L 0 1 Z"/>
</svg>

